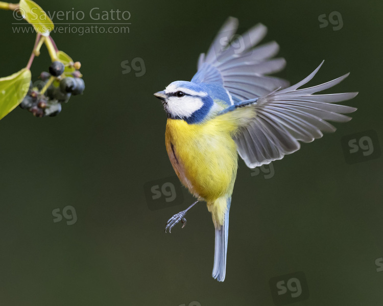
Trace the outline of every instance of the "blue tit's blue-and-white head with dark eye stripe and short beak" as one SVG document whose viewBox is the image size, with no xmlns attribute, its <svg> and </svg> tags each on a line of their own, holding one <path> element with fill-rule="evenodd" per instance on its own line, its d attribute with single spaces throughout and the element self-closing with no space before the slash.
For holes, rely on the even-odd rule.
<svg viewBox="0 0 383 306">
<path fill-rule="evenodd" d="M 154 96 L 162 101 L 169 118 L 189 124 L 206 120 L 218 107 L 208 93 L 193 82 L 173 82 Z"/>
</svg>

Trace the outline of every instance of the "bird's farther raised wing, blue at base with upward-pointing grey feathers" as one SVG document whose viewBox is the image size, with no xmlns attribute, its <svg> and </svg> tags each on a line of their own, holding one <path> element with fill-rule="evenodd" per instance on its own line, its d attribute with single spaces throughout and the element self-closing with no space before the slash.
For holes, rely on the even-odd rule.
<svg viewBox="0 0 383 306">
<path fill-rule="evenodd" d="M 238 20 L 230 17 L 212 42 L 206 56 L 200 55 L 198 72 L 192 82 L 198 83 L 213 99 L 227 105 L 268 95 L 289 86 L 289 82 L 266 74 L 279 72 L 283 58 L 271 59 L 278 51 L 275 41 L 257 46 L 267 33 L 258 24 L 242 35 L 234 35 Z"/>
</svg>

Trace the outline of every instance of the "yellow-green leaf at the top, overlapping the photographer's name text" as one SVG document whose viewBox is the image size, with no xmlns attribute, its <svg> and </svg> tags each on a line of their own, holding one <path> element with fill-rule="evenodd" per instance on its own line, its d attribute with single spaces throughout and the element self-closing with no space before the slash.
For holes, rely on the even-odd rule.
<svg viewBox="0 0 383 306">
<path fill-rule="evenodd" d="M 22 17 L 31 23 L 36 32 L 41 34 L 52 32 L 54 25 L 51 18 L 32 0 L 20 0 L 19 11 Z"/>
</svg>

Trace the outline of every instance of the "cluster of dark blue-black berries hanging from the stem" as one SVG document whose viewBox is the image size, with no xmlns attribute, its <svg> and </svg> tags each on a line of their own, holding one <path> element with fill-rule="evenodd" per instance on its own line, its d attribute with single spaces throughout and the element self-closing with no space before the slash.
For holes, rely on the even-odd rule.
<svg viewBox="0 0 383 306">
<path fill-rule="evenodd" d="M 54 61 L 49 73 L 42 72 L 41 82 L 33 86 L 31 81 L 27 96 L 20 103 L 22 109 L 28 109 L 36 117 L 56 116 L 61 112 L 61 103 L 66 103 L 73 95 L 80 95 L 85 89 L 81 79 L 80 62 L 70 63 L 73 72 L 68 73 L 60 61 Z M 70 76 L 71 75 L 71 76 Z"/>
</svg>

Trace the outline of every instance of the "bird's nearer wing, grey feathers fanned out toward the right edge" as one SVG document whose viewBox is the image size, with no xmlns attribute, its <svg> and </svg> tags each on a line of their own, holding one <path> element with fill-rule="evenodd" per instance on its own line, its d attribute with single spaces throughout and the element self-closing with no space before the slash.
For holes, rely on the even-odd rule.
<svg viewBox="0 0 383 306">
<path fill-rule="evenodd" d="M 337 85 L 349 74 L 321 85 L 298 89 L 315 76 L 322 64 L 291 87 L 259 99 L 237 103 L 223 111 L 246 111 L 252 108 L 254 113 L 255 110 L 253 119 L 234 138 L 238 153 L 249 168 L 270 163 L 299 150 L 298 141 L 309 143 L 322 137 L 322 131 L 334 132 L 336 128 L 327 121 L 351 120 L 351 117 L 343 114 L 351 113 L 356 108 L 332 103 L 350 100 L 357 92 L 313 95 L 314 92 Z"/>
</svg>

